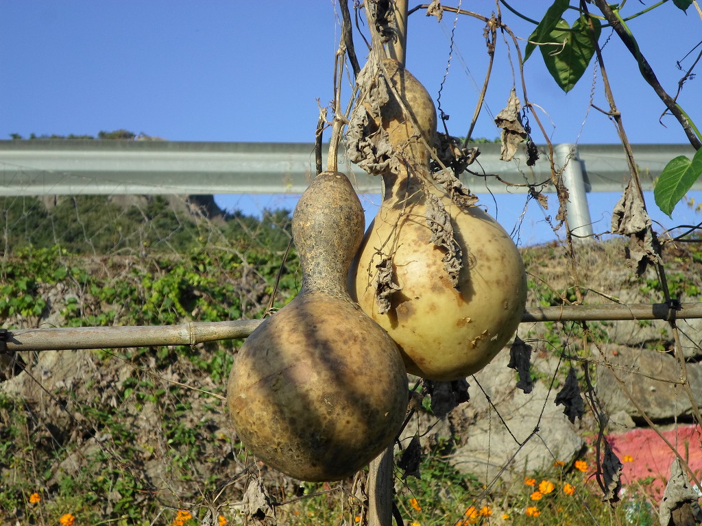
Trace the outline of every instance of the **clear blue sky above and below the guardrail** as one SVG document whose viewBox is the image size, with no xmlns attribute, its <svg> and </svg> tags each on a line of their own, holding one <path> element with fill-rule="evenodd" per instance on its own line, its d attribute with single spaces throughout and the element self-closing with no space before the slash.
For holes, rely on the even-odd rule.
<svg viewBox="0 0 702 526">
<path fill-rule="evenodd" d="M 487 0 L 463 4 L 484 15 L 495 8 Z M 540 19 L 550 1 L 512 0 L 510 4 Z M 630 0 L 624 14 L 644 7 Z M 312 142 L 317 99 L 326 104 L 332 96 L 338 16 L 331 0 L 0 0 L 0 138 L 11 133 L 97 135 L 100 130 L 125 128 L 168 140 Z M 534 29 L 504 9 L 503 21 L 524 39 Z M 409 21 L 407 67 L 435 97 L 449 59 L 453 22 L 452 13 L 445 13 L 438 23 L 421 11 Z M 629 25 L 663 86 L 674 94 L 682 76 L 676 61 L 702 39 L 702 20 L 694 6 L 685 15 L 668 1 Z M 482 29 L 482 22 L 458 18 L 453 58 L 442 90 L 442 108 L 451 116 L 452 135 L 468 131 L 477 86 L 484 77 L 487 55 Z M 609 29 L 604 29 L 602 40 L 608 35 Z M 364 42 L 356 36 L 355 43 L 363 60 Z M 516 65 L 514 48 L 510 51 Z M 684 67 L 691 65 L 697 51 L 682 62 Z M 616 36 L 609 39 L 604 57 L 630 141 L 686 142 L 672 117 L 663 119 L 665 126 L 658 122 L 663 104 L 641 79 L 635 61 Z M 592 68 L 568 94 L 552 81 L 538 51 L 525 68 L 527 93 L 531 102 L 543 108 L 539 116 L 550 140 L 617 142 L 609 119 L 594 109 L 588 112 L 595 79 Z M 702 123 L 701 81 L 689 81 L 679 98 L 698 126 Z M 498 36 L 486 109 L 474 136 L 498 136 L 492 116 L 505 104 L 511 87 L 507 47 Z M 521 90 L 517 93 L 521 95 Z M 607 107 L 599 72 L 594 102 Z M 534 135 L 536 142 L 544 142 Z M 518 197 L 496 196 L 498 219 L 508 231 L 524 203 L 524 196 Z M 603 218 L 595 231 L 609 229 L 616 196 L 590 194 L 589 198 L 592 219 Z M 249 213 L 294 205 L 294 198 L 281 196 L 226 196 L 218 201 Z M 490 196 L 483 201 L 494 208 Z M 651 200 L 649 209 L 653 208 Z M 366 213 L 374 213 L 370 201 L 366 201 Z M 536 205 L 531 206 L 522 224 L 523 243 L 553 238 L 543 227 L 543 215 Z M 656 219 L 673 226 L 695 217 L 681 204 L 673 222 L 663 215 Z"/>
</svg>

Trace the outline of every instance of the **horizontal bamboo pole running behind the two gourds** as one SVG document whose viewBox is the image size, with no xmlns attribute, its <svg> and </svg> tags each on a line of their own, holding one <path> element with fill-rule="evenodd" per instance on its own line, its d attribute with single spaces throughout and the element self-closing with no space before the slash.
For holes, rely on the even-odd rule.
<svg viewBox="0 0 702 526">
<path fill-rule="evenodd" d="M 675 318 L 702 318 L 702 303 L 683 303 L 680 309 L 670 309 L 664 303 L 535 307 L 524 312 L 522 322 L 667 320 L 671 315 Z M 261 320 L 237 320 L 180 325 L 9 330 L 6 348 L 8 351 L 65 351 L 194 345 L 245 338 L 260 323 Z"/>
</svg>

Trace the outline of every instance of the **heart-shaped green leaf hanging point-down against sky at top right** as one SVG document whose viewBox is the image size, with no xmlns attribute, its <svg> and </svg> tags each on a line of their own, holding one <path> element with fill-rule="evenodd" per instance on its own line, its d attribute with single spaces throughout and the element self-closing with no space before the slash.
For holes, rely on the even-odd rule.
<svg viewBox="0 0 702 526">
<path fill-rule="evenodd" d="M 548 72 L 566 93 L 580 80 L 585 69 L 588 69 L 592 55 L 595 55 L 595 42 L 600 38 L 602 26 L 596 18 L 592 19 L 592 26 L 594 35 L 585 16 L 578 18 L 572 29 L 568 22 L 561 19 L 548 36 L 549 42 L 562 42 L 561 46 L 541 46 L 541 55 Z"/>
</svg>

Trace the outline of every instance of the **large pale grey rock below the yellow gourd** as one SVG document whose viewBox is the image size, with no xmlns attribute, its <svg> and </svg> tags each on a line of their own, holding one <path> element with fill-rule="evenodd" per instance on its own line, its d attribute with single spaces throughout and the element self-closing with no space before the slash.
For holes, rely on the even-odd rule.
<svg viewBox="0 0 702 526">
<path fill-rule="evenodd" d="M 585 445 L 563 407 L 555 405 L 557 389 L 549 391 L 542 382 L 529 394 L 517 389 L 515 371 L 507 367 L 509 358 L 503 351 L 475 375 L 482 389 L 469 378 L 470 402 L 454 410 L 465 413 L 472 424 L 465 429 L 465 443 L 451 455 L 451 464 L 484 483 L 497 477 L 513 483 L 525 473 L 546 473 L 555 461 L 568 465 Z"/>
</svg>

